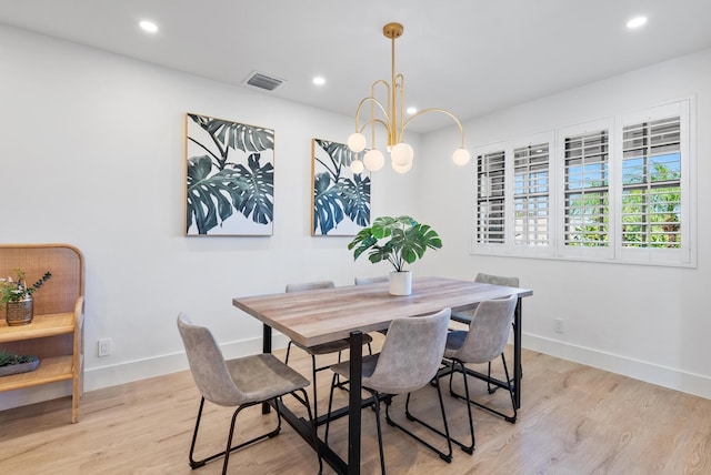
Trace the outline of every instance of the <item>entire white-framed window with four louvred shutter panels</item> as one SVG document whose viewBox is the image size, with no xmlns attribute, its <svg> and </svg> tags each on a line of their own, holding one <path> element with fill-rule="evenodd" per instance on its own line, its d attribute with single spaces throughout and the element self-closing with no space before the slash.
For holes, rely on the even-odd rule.
<svg viewBox="0 0 711 475">
<path fill-rule="evenodd" d="M 472 251 L 695 265 L 687 99 L 485 145 Z"/>
</svg>

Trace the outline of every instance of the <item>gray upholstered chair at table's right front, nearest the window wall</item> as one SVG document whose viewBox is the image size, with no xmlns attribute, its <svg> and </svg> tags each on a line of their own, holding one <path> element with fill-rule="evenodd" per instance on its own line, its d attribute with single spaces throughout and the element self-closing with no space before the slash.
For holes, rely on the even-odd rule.
<svg viewBox="0 0 711 475">
<path fill-rule="evenodd" d="M 513 396 L 513 388 L 510 384 L 509 370 L 503 350 L 509 341 L 511 333 L 511 322 L 513 321 L 513 311 L 515 310 L 517 295 L 510 295 L 507 299 L 488 300 L 479 303 L 474 315 L 469 324 L 469 330 L 458 330 L 447 335 L 447 348 L 444 350 L 444 358 L 451 361 L 451 371 L 449 373 L 449 391 L 454 397 L 467 401 L 467 410 L 469 414 L 469 429 L 471 433 L 471 443 L 464 445 L 458 441 L 457 443 L 464 452 L 471 454 L 474 451 L 474 423 L 471 415 L 471 405 L 490 411 L 497 415 L 504 417 L 509 422 L 515 422 L 517 408 Z M 511 396 L 511 406 L 513 415 L 505 415 L 497 410 L 472 401 L 469 396 L 469 383 L 467 377 L 467 363 L 480 364 L 490 363 L 492 360 L 501 356 L 503 362 L 503 371 L 508 390 Z M 452 380 L 454 373 L 461 373 L 464 383 L 464 395 L 454 392 Z"/>
</svg>

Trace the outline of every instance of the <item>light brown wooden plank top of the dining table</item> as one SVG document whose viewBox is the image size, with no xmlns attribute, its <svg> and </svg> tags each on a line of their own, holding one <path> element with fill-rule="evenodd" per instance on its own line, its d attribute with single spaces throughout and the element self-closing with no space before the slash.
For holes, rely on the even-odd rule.
<svg viewBox="0 0 711 475">
<path fill-rule="evenodd" d="M 304 292 L 237 297 L 232 304 L 306 346 L 347 338 L 360 330 L 384 330 L 394 319 L 427 315 L 451 307 L 465 309 L 511 294 L 532 295 L 528 289 L 505 287 L 444 277 L 415 277 L 412 294 L 388 293 L 388 282 Z"/>
</svg>

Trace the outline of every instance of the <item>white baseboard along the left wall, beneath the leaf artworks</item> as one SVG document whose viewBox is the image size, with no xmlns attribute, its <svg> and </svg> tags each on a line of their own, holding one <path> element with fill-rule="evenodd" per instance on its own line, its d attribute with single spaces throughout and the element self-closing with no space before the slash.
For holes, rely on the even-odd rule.
<svg viewBox="0 0 711 475">
<path fill-rule="evenodd" d="M 273 335 L 273 347 L 287 346 L 288 340 L 282 334 Z M 260 353 L 262 340 L 243 340 L 221 345 L 222 354 L 227 360 Z M 118 363 L 84 370 L 84 392 L 101 390 L 103 387 L 162 376 L 188 368 L 188 358 L 184 352 L 157 356 L 147 360 Z M 71 396 L 71 381 L 62 381 L 23 390 L 0 393 L 0 411 L 12 407 L 26 406 L 42 401 Z M 79 404 L 81 414 L 81 404 Z"/>
</svg>

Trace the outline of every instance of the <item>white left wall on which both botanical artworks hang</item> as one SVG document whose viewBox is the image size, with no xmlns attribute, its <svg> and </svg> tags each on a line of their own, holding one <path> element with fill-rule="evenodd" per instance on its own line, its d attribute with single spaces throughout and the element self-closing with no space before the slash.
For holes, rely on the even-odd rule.
<svg viewBox="0 0 711 475">
<path fill-rule="evenodd" d="M 261 324 L 232 297 L 388 271 L 353 263 L 349 238 L 310 235 L 311 139 L 344 142 L 352 118 L 4 27 L 0 64 L 0 242 L 83 252 L 87 391 L 186 368 L 180 311 L 236 356 L 261 350 Z M 272 236 L 183 235 L 186 112 L 274 130 Z M 413 182 L 373 175 L 372 214 L 412 213 Z M 57 393 L 3 393 L 0 408 Z"/>
</svg>

